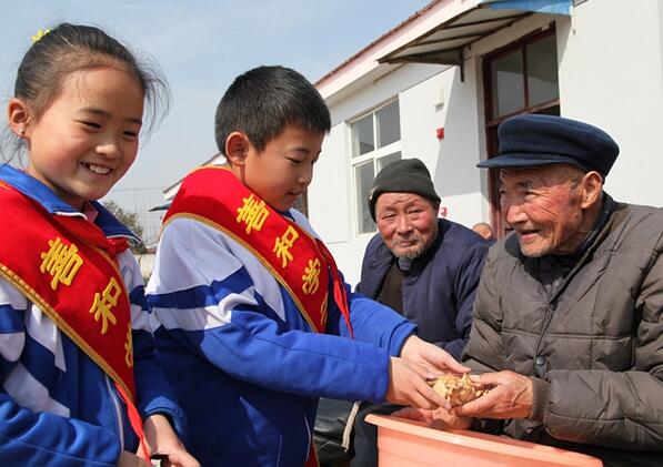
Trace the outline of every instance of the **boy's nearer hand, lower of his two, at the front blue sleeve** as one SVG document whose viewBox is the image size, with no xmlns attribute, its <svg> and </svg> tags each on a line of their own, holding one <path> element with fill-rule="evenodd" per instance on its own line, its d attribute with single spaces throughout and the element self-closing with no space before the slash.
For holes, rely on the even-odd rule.
<svg viewBox="0 0 663 467">
<path fill-rule="evenodd" d="M 449 403 L 426 383 L 431 373 L 421 365 L 403 358 L 391 357 L 386 400 L 393 404 L 421 408 L 449 408 Z"/>
</svg>

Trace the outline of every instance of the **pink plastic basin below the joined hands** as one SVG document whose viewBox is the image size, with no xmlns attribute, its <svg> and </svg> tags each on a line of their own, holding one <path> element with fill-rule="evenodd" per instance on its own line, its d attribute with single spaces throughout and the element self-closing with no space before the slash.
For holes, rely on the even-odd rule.
<svg viewBox="0 0 663 467">
<path fill-rule="evenodd" d="M 440 430 L 404 418 L 369 415 L 378 425 L 380 467 L 601 467 L 584 454 L 466 430 Z"/>
</svg>

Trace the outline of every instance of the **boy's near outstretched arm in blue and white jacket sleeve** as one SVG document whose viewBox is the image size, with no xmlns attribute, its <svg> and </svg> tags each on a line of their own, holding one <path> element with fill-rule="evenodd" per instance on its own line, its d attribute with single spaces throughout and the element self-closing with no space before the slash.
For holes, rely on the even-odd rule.
<svg viewBox="0 0 663 467">
<path fill-rule="evenodd" d="M 211 226 L 188 219 L 168 224 L 148 301 L 160 324 L 155 335 L 177 341 L 220 377 L 308 396 L 384 400 L 390 353 L 311 332 L 259 260 Z"/>
</svg>

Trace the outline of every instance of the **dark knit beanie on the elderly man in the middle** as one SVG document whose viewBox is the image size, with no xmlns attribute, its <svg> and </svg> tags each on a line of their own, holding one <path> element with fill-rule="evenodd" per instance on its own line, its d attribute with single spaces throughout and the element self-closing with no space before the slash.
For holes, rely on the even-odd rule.
<svg viewBox="0 0 663 467">
<path fill-rule="evenodd" d="M 415 193 L 434 203 L 440 202 L 431 173 L 419 159 L 394 161 L 378 173 L 369 191 L 369 210 L 375 220 L 375 203 L 382 193 Z"/>
</svg>

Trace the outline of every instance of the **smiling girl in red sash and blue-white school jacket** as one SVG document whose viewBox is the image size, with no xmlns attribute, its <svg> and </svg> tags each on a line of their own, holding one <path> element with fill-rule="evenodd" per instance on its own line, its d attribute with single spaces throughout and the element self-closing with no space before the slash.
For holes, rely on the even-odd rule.
<svg viewBox="0 0 663 467">
<path fill-rule="evenodd" d="M 2 465 L 198 466 L 152 358 L 135 237 L 94 201 L 133 163 L 162 84 L 103 31 L 67 23 L 19 67 L 8 118 L 27 166 L 0 165 Z"/>
</svg>

